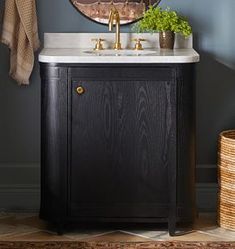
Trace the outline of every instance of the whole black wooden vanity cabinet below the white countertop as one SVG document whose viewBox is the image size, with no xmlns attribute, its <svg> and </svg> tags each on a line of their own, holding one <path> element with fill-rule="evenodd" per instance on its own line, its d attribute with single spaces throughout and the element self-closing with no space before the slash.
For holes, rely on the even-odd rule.
<svg viewBox="0 0 235 249">
<path fill-rule="evenodd" d="M 194 64 L 41 63 L 41 210 L 58 225 L 194 215 Z"/>
</svg>

